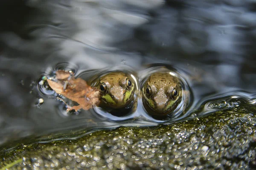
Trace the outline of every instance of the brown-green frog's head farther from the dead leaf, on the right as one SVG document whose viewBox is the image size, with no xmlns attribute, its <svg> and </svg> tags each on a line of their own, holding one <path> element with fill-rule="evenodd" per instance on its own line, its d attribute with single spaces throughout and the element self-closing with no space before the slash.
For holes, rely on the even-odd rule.
<svg viewBox="0 0 256 170">
<path fill-rule="evenodd" d="M 180 103 L 180 80 L 167 71 L 154 72 L 142 86 L 143 106 L 153 116 L 166 116 Z"/>
</svg>

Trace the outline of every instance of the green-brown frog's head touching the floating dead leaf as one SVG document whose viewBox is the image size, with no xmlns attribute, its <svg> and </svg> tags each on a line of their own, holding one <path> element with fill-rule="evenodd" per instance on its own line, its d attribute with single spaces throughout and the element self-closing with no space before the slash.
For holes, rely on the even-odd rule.
<svg viewBox="0 0 256 170">
<path fill-rule="evenodd" d="M 96 87 L 105 107 L 122 109 L 134 103 L 135 84 L 129 74 L 113 71 L 99 77 L 97 81 Z"/>
</svg>

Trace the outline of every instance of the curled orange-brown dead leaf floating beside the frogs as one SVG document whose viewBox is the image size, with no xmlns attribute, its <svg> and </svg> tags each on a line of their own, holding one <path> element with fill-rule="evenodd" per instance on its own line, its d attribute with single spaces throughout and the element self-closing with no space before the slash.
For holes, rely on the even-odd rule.
<svg viewBox="0 0 256 170">
<path fill-rule="evenodd" d="M 56 71 L 57 82 L 47 79 L 49 86 L 58 94 L 62 94 L 78 106 L 68 106 L 68 110 L 78 111 L 79 109 L 89 110 L 94 105 L 99 104 L 99 90 L 87 85 L 81 78 L 70 77 L 70 73 L 63 70 Z"/>
</svg>

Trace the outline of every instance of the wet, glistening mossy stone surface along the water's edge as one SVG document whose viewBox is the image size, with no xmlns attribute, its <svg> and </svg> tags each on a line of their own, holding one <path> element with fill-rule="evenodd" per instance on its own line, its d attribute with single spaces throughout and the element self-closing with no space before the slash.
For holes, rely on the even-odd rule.
<svg viewBox="0 0 256 170">
<path fill-rule="evenodd" d="M 10 169 L 254 169 L 255 108 L 232 108 L 156 127 L 119 127 L 80 139 L 23 146 L 1 156 Z"/>
</svg>

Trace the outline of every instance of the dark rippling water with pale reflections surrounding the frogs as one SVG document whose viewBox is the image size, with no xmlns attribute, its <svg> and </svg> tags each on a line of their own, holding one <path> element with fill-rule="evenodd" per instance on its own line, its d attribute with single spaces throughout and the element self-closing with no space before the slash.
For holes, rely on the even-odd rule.
<svg viewBox="0 0 256 170">
<path fill-rule="evenodd" d="M 65 105 L 37 85 L 41 75 L 56 68 L 73 69 L 84 79 L 123 68 L 140 82 L 152 65 L 172 67 L 191 88 L 192 98 L 186 112 L 167 124 L 238 107 L 237 99 L 255 105 L 255 11 L 253 0 L 3 1 L 2 150 L 20 139 L 44 142 L 81 129 L 163 123 L 145 113 L 141 100 L 137 112 L 125 118 L 98 110 L 63 112 Z M 43 105 L 38 105 L 40 98 Z"/>
</svg>

